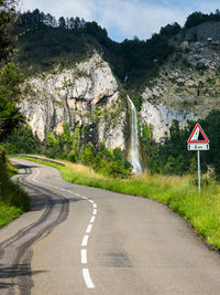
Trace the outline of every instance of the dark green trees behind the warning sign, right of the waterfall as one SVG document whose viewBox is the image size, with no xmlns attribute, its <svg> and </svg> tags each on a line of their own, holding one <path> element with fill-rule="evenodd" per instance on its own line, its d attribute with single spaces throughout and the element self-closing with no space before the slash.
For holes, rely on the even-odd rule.
<svg viewBox="0 0 220 295">
<path fill-rule="evenodd" d="M 213 167 L 219 177 L 220 110 L 212 110 L 206 119 L 200 119 L 199 124 L 210 140 L 210 150 L 201 152 L 201 169 L 205 172 L 209 167 Z M 180 129 L 178 122 L 174 120 L 169 129 L 170 135 L 162 145 L 152 140 L 147 126 L 143 128 L 141 143 L 152 173 L 183 175 L 196 171 L 196 152 L 187 150 L 187 140 L 195 125 L 196 122 L 188 122 L 187 126 Z"/>
</svg>

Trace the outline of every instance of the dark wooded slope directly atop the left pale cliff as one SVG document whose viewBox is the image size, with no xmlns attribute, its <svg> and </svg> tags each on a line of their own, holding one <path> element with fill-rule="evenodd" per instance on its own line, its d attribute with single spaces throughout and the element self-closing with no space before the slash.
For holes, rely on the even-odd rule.
<svg viewBox="0 0 220 295">
<path fill-rule="evenodd" d="M 37 9 L 21 13 L 14 33 L 19 34 L 20 48 L 15 61 L 25 75 L 53 71 L 57 65 L 68 67 L 98 48 L 98 41 L 108 39 L 106 29 L 96 22 L 78 17 L 57 21 Z"/>
</svg>

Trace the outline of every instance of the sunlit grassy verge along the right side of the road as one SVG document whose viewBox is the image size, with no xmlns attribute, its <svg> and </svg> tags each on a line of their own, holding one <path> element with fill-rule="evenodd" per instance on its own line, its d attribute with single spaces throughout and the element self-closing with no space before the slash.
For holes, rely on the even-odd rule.
<svg viewBox="0 0 220 295">
<path fill-rule="evenodd" d="M 162 202 L 185 218 L 209 245 L 220 250 L 220 188 L 215 181 L 204 181 L 199 194 L 196 181 L 189 176 L 142 175 L 120 180 L 102 177 L 81 165 L 67 164 L 68 166 L 61 167 L 42 160 L 34 161 L 59 169 L 63 178 L 73 183 L 147 197 Z"/>
</svg>

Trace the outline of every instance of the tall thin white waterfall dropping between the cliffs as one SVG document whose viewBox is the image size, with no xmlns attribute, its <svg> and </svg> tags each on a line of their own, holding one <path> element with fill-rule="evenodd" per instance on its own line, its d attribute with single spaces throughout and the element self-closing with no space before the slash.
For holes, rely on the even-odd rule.
<svg viewBox="0 0 220 295">
<path fill-rule="evenodd" d="M 136 109 L 129 97 L 127 95 L 129 103 L 131 105 L 131 150 L 130 150 L 130 158 L 131 158 L 131 165 L 133 166 L 132 172 L 135 175 L 141 173 L 142 167 L 141 167 L 141 160 L 139 156 L 139 130 L 138 130 L 138 118 L 136 118 Z"/>
</svg>

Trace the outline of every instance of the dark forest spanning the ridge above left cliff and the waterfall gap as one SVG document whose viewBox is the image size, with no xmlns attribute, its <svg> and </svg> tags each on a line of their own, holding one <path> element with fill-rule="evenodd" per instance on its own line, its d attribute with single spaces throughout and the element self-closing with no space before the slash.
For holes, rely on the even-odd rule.
<svg viewBox="0 0 220 295">
<path fill-rule="evenodd" d="M 18 62 L 25 74 L 50 71 L 58 64 L 68 66 L 95 49 L 110 62 L 114 74 L 122 82 L 128 77 L 127 85 L 130 85 L 131 82 L 156 73 L 157 65 L 153 61 L 156 59 L 160 63 L 164 62 L 174 50 L 164 32 L 177 32 L 178 24 L 172 25 L 172 30 L 162 30 L 163 34 L 155 34 L 146 41 L 134 38 L 117 43 L 95 21 L 86 22 L 78 17 L 62 17 L 57 21 L 36 9 L 22 13 L 14 31 L 21 34 Z"/>
</svg>

